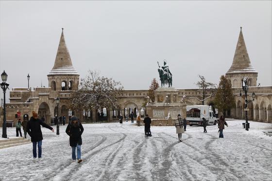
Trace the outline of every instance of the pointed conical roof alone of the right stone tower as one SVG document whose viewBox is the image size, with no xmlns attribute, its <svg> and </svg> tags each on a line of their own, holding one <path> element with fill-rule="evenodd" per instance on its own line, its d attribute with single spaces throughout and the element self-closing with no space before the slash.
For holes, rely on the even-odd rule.
<svg viewBox="0 0 272 181">
<path fill-rule="evenodd" d="M 233 58 L 232 65 L 226 74 L 233 74 L 233 73 L 258 73 L 254 67 L 251 65 L 246 44 L 244 41 L 242 27 L 240 27 L 240 34 Z"/>
</svg>

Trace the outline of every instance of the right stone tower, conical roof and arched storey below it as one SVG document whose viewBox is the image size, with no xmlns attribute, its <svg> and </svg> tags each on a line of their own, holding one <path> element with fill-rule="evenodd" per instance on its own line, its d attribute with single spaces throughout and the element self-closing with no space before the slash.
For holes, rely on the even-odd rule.
<svg viewBox="0 0 272 181">
<path fill-rule="evenodd" d="M 248 77 L 249 86 L 256 86 L 258 72 L 251 65 L 242 33 L 242 27 L 240 27 L 240 29 L 233 62 L 226 73 L 226 77 L 231 80 L 232 87 L 241 87 L 244 77 Z"/>
</svg>

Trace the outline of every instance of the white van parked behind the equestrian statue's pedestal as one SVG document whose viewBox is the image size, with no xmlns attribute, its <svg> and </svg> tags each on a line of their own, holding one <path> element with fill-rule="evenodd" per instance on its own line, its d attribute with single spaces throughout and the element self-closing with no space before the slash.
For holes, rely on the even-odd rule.
<svg viewBox="0 0 272 181">
<path fill-rule="evenodd" d="M 189 105 L 187 109 L 187 121 L 189 125 L 201 125 L 202 118 L 207 120 L 207 125 L 213 125 L 217 120 L 214 112 L 210 110 L 208 105 Z"/>
</svg>

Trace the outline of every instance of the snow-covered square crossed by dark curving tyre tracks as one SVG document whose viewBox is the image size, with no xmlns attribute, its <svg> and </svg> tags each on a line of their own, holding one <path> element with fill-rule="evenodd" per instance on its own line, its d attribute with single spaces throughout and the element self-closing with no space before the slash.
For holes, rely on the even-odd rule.
<svg viewBox="0 0 272 181">
<path fill-rule="evenodd" d="M 71 161 L 66 126 L 60 135 L 42 128 L 42 160 L 32 159 L 32 144 L 0 149 L 0 180 L 272 180 L 272 124 L 229 120 L 218 138 L 217 126 L 189 127 L 178 142 L 174 127 L 144 127 L 130 122 L 84 124 L 81 164 Z M 54 129 L 56 130 L 55 126 Z M 8 128 L 8 136 L 16 129 Z M 1 131 L 0 131 L 0 134 Z"/>
</svg>

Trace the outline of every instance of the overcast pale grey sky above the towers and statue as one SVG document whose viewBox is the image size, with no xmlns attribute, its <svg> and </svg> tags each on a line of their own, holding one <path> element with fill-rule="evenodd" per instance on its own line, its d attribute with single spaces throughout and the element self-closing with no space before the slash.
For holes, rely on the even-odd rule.
<svg viewBox="0 0 272 181">
<path fill-rule="evenodd" d="M 10 87 L 48 86 L 64 28 L 73 66 L 148 89 L 168 61 L 173 87 L 218 83 L 240 26 L 257 83 L 272 85 L 272 1 L 0 1 L 0 72 Z M 9 93 L 8 93 L 9 95 Z M 2 91 L 0 94 L 2 97 Z"/>
</svg>

